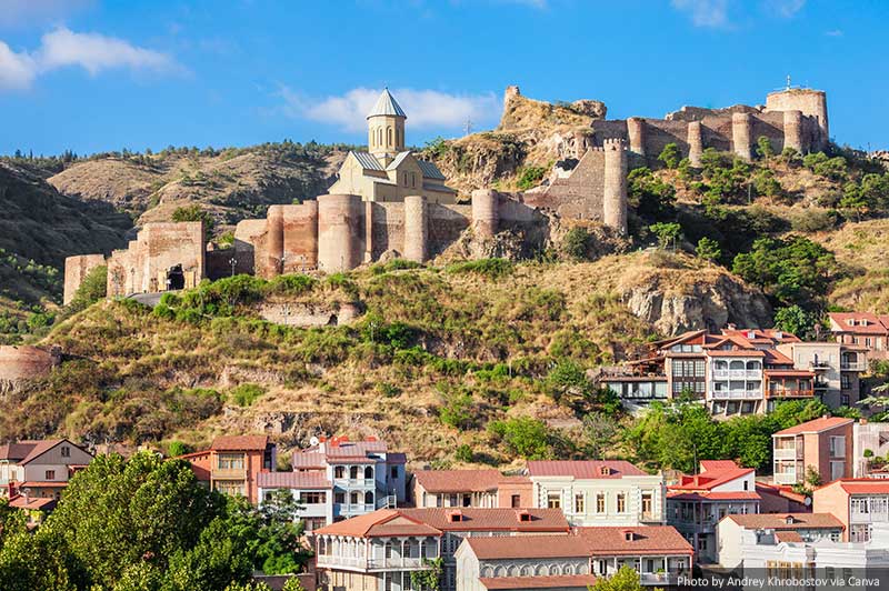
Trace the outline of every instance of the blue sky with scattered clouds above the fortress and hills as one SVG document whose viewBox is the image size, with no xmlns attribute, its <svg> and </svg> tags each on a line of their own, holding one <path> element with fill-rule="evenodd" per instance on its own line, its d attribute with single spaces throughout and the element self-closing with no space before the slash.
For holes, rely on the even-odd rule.
<svg viewBox="0 0 889 591">
<path fill-rule="evenodd" d="M 609 117 L 828 92 L 889 148 L 882 0 L 0 0 L 0 153 L 362 143 L 388 84 L 408 141 L 496 126 L 502 92 Z"/>
</svg>

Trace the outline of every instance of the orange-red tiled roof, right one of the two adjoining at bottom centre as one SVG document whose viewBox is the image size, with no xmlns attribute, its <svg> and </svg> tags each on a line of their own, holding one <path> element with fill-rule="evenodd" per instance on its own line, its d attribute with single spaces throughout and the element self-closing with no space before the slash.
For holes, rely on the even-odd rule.
<svg viewBox="0 0 889 591">
<path fill-rule="evenodd" d="M 693 549 L 672 525 L 641 525 L 638 528 L 578 528 L 589 555 L 616 554 L 691 554 Z M 627 532 L 632 539 L 627 539 Z"/>
</svg>

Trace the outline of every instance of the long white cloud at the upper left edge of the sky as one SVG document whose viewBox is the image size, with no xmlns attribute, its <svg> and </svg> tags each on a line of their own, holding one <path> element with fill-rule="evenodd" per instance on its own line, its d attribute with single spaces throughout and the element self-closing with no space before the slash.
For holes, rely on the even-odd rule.
<svg viewBox="0 0 889 591">
<path fill-rule="evenodd" d="M 60 27 L 41 38 L 33 52 L 14 52 L 0 41 L 0 89 L 27 89 L 33 80 L 59 68 L 80 67 L 91 76 L 103 70 L 180 70 L 167 53 L 136 47 L 98 33 L 77 33 Z"/>
</svg>

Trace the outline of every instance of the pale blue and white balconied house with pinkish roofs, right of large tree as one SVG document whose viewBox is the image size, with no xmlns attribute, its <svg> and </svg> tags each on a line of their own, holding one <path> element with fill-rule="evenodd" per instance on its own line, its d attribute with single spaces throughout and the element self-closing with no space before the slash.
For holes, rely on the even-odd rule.
<svg viewBox="0 0 889 591">
<path fill-rule="evenodd" d="M 308 530 L 406 502 L 407 458 L 382 441 L 319 439 L 290 462 L 292 473 L 261 477 L 259 495 L 289 490 L 304 507 L 298 517 Z"/>
</svg>

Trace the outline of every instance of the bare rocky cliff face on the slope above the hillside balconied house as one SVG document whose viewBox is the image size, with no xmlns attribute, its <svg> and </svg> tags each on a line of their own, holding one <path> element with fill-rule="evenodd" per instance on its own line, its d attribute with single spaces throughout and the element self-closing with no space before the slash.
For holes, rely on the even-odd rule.
<svg viewBox="0 0 889 591">
<path fill-rule="evenodd" d="M 682 291 L 650 281 L 627 288 L 621 298 L 633 314 L 653 323 L 663 334 L 716 331 L 729 322 L 752 328 L 771 325 L 771 307 L 766 298 L 728 274 L 715 282 L 695 282 Z"/>
</svg>

